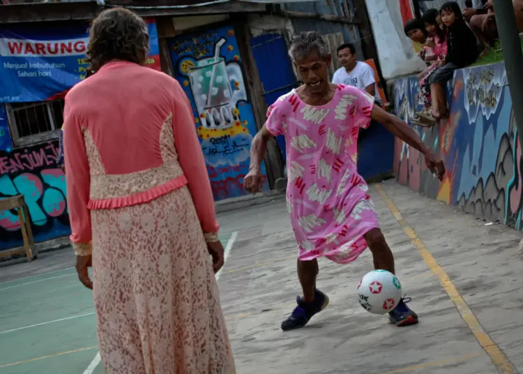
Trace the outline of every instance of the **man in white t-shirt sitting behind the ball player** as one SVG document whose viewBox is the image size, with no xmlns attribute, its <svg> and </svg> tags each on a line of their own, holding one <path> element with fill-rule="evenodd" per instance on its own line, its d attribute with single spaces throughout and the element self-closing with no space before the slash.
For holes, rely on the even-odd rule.
<svg viewBox="0 0 523 374">
<path fill-rule="evenodd" d="M 376 103 L 381 105 L 374 70 L 365 62 L 356 61 L 356 48 L 349 43 L 338 47 L 338 59 L 342 67 L 336 70 L 333 76 L 333 83 L 345 84 L 367 91 L 374 96 Z"/>
</svg>

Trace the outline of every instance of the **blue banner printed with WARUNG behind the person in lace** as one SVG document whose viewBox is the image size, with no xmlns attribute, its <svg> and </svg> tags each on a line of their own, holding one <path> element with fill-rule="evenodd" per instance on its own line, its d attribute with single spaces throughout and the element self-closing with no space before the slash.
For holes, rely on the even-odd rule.
<svg viewBox="0 0 523 374">
<path fill-rule="evenodd" d="M 149 27 L 151 51 L 147 65 L 160 70 L 158 31 Z M 63 98 L 85 78 L 89 28 L 0 27 L 0 103 Z"/>
</svg>

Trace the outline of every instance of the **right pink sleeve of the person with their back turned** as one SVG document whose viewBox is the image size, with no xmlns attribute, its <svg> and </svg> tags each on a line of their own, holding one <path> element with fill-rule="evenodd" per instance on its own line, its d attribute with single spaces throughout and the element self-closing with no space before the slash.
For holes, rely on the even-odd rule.
<svg viewBox="0 0 523 374">
<path fill-rule="evenodd" d="M 195 130 L 195 118 L 192 115 L 189 99 L 180 87 L 174 83 L 174 115 L 172 127 L 174 143 L 183 174 L 188 180 L 188 188 L 195 203 L 200 225 L 204 232 L 218 232 L 213 191 L 205 164 L 202 146 Z"/>
</svg>

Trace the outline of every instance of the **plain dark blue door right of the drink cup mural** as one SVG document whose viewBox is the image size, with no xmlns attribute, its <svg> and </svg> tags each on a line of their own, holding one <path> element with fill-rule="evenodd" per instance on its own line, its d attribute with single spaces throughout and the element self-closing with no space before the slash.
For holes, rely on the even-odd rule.
<svg viewBox="0 0 523 374">
<path fill-rule="evenodd" d="M 267 33 L 252 38 L 250 47 L 264 87 L 265 102 L 272 105 L 276 99 L 297 86 L 285 38 L 279 33 Z M 285 138 L 279 135 L 276 143 L 282 151 L 283 160 L 287 162 Z"/>
</svg>

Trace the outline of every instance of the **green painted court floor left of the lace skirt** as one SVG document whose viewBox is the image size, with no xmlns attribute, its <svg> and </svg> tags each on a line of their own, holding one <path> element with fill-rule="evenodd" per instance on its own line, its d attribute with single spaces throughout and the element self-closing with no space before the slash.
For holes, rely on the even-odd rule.
<svg viewBox="0 0 523 374">
<path fill-rule="evenodd" d="M 227 258 L 236 232 L 220 239 Z M 103 373 L 92 293 L 73 267 L 0 283 L 0 299 L 0 373 Z"/>
</svg>

